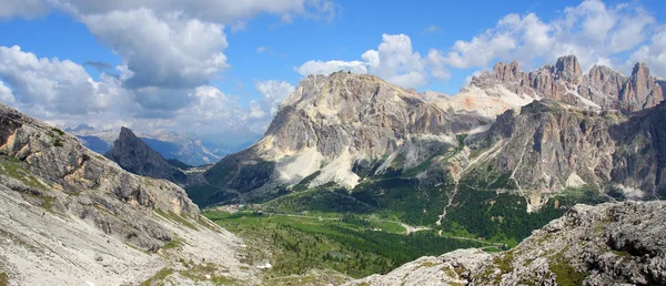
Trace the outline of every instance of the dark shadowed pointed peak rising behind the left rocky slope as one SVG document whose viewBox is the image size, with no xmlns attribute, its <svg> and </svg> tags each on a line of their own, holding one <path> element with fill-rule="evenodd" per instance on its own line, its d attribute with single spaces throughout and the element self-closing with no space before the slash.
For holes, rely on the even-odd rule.
<svg viewBox="0 0 666 286">
<path fill-rule="evenodd" d="M 138 175 L 164 178 L 179 184 L 184 184 L 186 181 L 183 172 L 167 162 L 162 155 L 127 127 L 120 129 L 120 135 L 113 142 L 113 149 L 104 156 L 118 163 L 125 171 Z"/>
</svg>

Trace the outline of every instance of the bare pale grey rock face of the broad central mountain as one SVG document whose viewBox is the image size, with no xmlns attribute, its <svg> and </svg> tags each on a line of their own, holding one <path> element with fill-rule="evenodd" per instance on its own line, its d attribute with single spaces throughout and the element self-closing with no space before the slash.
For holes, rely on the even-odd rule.
<svg viewBox="0 0 666 286">
<path fill-rule="evenodd" d="M 375 159 L 396 151 L 407 134 L 467 129 L 468 123 L 376 76 L 336 72 L 305 79 L 281 104 L 265 136 L 282 151 L 315 147 L 336 157 L 349 147 Z"/>
</svg>

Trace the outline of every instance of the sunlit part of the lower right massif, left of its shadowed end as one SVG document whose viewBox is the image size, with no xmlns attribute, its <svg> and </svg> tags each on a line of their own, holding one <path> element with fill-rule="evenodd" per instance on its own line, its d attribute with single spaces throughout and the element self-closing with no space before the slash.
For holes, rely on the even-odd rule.
<svg viewBox="0 0 666 286">
<path fill-rule="evenodd" d="M 476 176 L 508 176 L 509 183 L 538 205 L 544 193 L 567 186 L 598 186 L 610 181 L 615 141 L 596 112 L 555 101 L 536 101 L 518 113 L 497 118 L 484 134 L 470 139 L 473 150 L 500 151 L 473 166 Z"/>
</svg>

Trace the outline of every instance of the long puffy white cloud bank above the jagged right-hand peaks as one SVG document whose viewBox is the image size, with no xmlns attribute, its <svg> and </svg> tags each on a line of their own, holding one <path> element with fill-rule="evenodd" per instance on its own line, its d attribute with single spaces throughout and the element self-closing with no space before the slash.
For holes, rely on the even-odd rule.
<svg viewBox="0 0 666 286">
<path fill-rule="evenodd" d="M 431 51 L 428 59 L 440 70 L 488 68 L 497 60 L 518 60 L 534 69 L 565 54 L 578 57 L 585 70 L 594 64 L 620 64 L 617 53 L 642 44 L 655 22 L 640 6 L 607 7 L 586 0 L 547 22 L 535 13 L 507 14 L 472 40 L 458 40 L 445 51 Z"/>
</svg>

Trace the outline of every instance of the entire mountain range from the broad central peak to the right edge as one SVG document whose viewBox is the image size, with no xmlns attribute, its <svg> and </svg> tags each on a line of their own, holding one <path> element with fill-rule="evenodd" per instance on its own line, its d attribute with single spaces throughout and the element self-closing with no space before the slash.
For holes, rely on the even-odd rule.
<svg viewBox="0 0 666 286">
<path fill-rule="evenodd" d="M 250 201 L 303 183 L 354 190 L 394 172 L 434 184 L 496 177 L 534 210 L 566 187 L 629 197 L 658 197 L 664 187 L 662 163 L 652 161 L 664 93 L 645 64 L 625 76 L 607 67 L 583 75 L 573 55 L 533 72 L 500 62 L 457 95 L 422 98 L 373 75 L 310 75 L 263 139 L 205 177 Z"/>
</svg>

